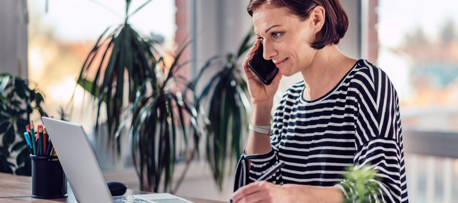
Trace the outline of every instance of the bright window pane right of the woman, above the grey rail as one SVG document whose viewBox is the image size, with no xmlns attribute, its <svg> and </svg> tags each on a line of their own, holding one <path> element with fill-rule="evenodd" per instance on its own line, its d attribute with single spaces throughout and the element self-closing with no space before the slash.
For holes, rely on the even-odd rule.
<svg viewBox="0 0 458 203">
<path fill-rule="evenodd" d="M 458 132 L 458 6 L 379 1 L 377 64 L 393 82 L 403 128 Z"/>
</svg>

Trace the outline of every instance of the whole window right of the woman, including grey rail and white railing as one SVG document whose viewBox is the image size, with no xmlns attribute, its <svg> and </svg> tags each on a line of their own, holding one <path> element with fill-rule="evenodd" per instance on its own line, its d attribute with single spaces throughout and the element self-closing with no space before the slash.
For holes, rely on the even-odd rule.
<svg viewBox="0 0 458 203">
<path fill-rule="evenodd" d="M 458 132 L 457 9 L 452 0 L 380 0 L 376 9 L 377 64 L 399 95 L 412 202 L 457 198 L 458 160 L 448 147 Z"/>
</svg>

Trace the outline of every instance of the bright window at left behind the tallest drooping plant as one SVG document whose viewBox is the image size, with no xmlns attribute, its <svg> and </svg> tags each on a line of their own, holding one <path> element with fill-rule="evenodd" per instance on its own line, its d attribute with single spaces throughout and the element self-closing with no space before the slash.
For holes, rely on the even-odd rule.
<svg viewBox="0 0 458 203">
<path fill-rule="evenodd" d="M 145 2 L 132 1 L 130 12 Z M 124 22 L 125 7 L 125 1 L 49 1 L 46 12 L 45 1 L 28 1 L 28 76 L 45 93 L 45 111 L 50 115 L 59 117 L 59 107 L 68 111 L 67 105 L 85 57 L 108 26 L 116 27 Z M 145 37 L 162 36 L 165 48 L 173 48 L 174 1 L 152 1 L 130 17 L 129 23 Z M 69 119 L 81 123 L 91 133 L 95 123 L 92 115 L 96 112 L 87 108 L 89 94 L 85 95 L 83 103 L 83 91 L 76 87 L 74 109 L 67 113 L 72 116 Z M 91 119 L 87 119 L 89 116 Z"/>
</svg>

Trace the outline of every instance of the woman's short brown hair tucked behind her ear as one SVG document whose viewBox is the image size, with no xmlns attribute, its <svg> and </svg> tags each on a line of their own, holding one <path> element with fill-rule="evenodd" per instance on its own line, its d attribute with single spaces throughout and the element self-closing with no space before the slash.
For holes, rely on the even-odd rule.
<svg viewBox="0 0 458 203">
<path fill-rule="evenodd" d="M 291 14 L 301 20 L 306 20 L 313 8 L 322 6 L 326 12 L 325 23 L 321 29 L 322 38 L 311 44 L 314 49 L 338 44 L 347 32 L 348 17 L 339 0 L 250 0 L 247 8 L 250 16 L 253 16 L 253 12 L 266 3 L 277 8 L 287 8 Z"/>
</svg>

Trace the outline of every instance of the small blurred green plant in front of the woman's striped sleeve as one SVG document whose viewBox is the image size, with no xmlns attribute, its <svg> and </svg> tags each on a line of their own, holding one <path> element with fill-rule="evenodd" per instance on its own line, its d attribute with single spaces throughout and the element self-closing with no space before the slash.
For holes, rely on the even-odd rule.
<svg viewBox="0 0 458 203">
<path fill-rule="evenodd" d="M 379 202 L 378 178 L 375 176 L 378 170 L 368 165 L 362 167 L 347 167 L 349 173 L 344 175 L 344 183 L 341 185 L 347 191 L 348 198 L 344 203 Z"/>
</svg>

